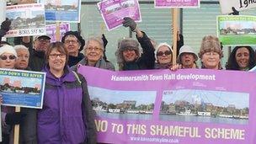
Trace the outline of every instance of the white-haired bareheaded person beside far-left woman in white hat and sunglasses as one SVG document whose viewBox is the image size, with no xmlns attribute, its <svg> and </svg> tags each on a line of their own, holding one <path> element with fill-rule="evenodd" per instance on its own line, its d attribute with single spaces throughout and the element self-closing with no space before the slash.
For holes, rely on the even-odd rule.
<svg viewBox="0 0 256 144">
<path fill-rule="evenodd" d="M 29 50 L 24 45 L 15 45 L 15 51 L 17 52 L 17 61 L 15 63 L 15 68 L 21 70 L 29 70 Z"/>
</svg>

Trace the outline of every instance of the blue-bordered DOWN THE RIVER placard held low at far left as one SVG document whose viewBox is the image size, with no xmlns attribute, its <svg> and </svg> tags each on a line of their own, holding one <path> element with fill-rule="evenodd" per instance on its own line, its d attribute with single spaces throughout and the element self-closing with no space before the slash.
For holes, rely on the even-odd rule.
<svg viewBox="0 0 256 144">
<path fill-rule="evenodd" d="M 3 105 L 42 109 L 45 72 L 0 68 L 0 93 Z"/>
</svg>

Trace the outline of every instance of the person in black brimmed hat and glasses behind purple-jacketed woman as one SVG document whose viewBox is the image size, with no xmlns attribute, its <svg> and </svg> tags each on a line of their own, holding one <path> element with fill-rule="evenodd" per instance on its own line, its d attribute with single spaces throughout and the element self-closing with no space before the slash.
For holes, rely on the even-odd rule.
<svg viewBox="0 0 256 144">
<path fill-rule="evenodd" d="M 72 67 L 83 59 L 83 54 L 80 51 L 83 50 L 85 41 L 78 31 L 67 31 L 62 37 L 61 42 L 67 46 L 68 51 L 68 66 Z"/>
</svg>

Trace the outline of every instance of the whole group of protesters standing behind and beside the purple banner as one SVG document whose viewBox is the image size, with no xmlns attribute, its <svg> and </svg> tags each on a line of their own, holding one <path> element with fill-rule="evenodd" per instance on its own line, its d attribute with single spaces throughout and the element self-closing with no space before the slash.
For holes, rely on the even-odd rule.
<svg viewBox="0 0 256 144">
<path fill-rule="evenodd" d="M 0 35 L 8 31 L 8 23 L 3 22 Z M 183 36 L 177 35 L 178 64 L 173 66 L 171 45 L 154 46 L 131 18 L 125 18 L 123 25 L 136 33 L 136 40 L 119 40 L 115 55 L 120 71 L 198 68 L 199 58 L 201 68 L 222 69 L 221 43 L 215 36 L 203 38 L 197 55 L 193 48 L 184 45 Z M 2 143 L 13 140 L 12 127 L 18 124 L 20 143 L 96 143 L 95 114 L 86 80 L 77 73 L 77 68 L 83 65 L 115 71 L 104 56 L 106 43 L 104 35 L 85 41 L 77 31 L 67 32 L 61 42 L 51 43 L 47 35 L 36 36 L 34 40 L 23 37 L 20 45 L 14 47 L 2 42 L 0 68 L 46 72 L 43 109 L 23 108 L 14 112 L 13 108 L 2 106 Z M 228 58 L 227 69 L 248 71 L 255 63 L 250 46 L 237 46 Z"/>
</svg>

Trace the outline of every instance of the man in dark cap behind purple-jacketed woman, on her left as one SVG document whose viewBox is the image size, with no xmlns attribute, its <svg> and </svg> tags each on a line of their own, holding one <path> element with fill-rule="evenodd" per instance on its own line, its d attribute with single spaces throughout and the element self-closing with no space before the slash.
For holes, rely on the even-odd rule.
<svg viewBox="0 0 256 144">
<path fill-rule="evenodd" d="M 40 72 L 45 65 L 45 51 L 51 43 L 51 38 L 47 35 L 35 36 L 34 42 L 25 44 L 29 47 L 29 67 L 32 71 Z M 32 48 L 34 46 L 34 49 Z"/>
</svg>

